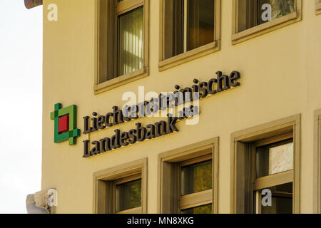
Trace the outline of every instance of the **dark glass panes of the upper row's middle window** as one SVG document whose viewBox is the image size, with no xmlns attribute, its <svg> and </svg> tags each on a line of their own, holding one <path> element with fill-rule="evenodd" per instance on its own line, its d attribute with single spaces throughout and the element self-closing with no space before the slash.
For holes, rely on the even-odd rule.
<svg viewBox="0 0 321 228">
<path fill-rule="evenodd" d="M 164 58 L 214 41 L 213 0 L 164 0 Z"/>
</svg>

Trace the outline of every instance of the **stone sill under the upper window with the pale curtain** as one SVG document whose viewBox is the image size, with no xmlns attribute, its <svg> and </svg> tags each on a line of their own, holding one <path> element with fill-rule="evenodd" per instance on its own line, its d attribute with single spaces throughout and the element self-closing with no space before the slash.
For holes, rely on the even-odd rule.
<svg viewBox="0 0 321 228">
<path fill-rule="evenodd" d="M 138 71 L 134 71 L 131 73 L 127 73 L 123 76 L 119 76 L 117 78 L 113 78 L 111 80 L 108 80 L 106 82 L 100 83 L 98 85 L 93 86 L 93 90 L 96 94 L 103 93 L 107 90 L 111 90 L 113 88 L 116 88 L 118 86 L 123 86 L 127 83 L 131 83 L 132 81 L 136 81 L 138 79 L 144 78 L 148 76 L 148 67 L 141 68 Z"/>
</svg>

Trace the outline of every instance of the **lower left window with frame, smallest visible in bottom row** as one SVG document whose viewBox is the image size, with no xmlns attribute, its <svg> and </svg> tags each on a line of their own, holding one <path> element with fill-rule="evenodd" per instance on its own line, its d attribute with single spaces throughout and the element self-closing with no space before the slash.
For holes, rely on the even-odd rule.
<svg viewBox="0 0 321 228">
<path fill-rule="evenodd" d="M 147 159 L 94 174 L 94 212 L 98 214 L 146 213 Z"/>
</svg>

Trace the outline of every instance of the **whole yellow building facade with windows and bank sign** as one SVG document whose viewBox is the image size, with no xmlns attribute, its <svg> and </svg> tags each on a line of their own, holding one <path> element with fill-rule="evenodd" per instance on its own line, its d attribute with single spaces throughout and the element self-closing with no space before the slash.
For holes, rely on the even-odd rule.
<svg viewBox="0 0 321 228">
<path fill-rule="evenodd" d="M 320 0 L 43 4 L 56 213 L 320 212 Z"/>
</svg>

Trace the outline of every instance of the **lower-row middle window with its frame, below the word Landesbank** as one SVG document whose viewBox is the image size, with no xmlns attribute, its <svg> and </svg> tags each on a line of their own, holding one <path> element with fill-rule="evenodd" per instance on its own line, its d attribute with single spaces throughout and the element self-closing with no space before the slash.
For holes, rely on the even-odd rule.
<svg viewBox="0 0 321 228">
<path fill-rule="evenodd" d="M 164 152 L 158 162 L 161 213 L 218 213 L 218 138 Z"/>
</svg>

